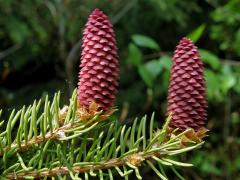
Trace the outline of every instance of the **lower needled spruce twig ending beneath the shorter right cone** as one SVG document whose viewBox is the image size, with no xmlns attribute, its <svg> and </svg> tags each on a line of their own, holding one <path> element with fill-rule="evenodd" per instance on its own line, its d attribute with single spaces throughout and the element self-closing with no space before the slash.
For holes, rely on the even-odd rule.
<svg viewBox="0 0 240 180">
<path fill-rule="evenodd" d="M 192 164 L 172 160 L 170 157 L 196 149 L 203 144 L 203 142 L 195 143 L 190 140 L 191 137 L 188 137 L 188 133 L 192 131 L 191 129 L 187 129 L 180 134 L 169 131 L 170 120 L 171 116 L 166 120 L 163 128 L 155 132 L 153 127 L 154 114 L 151 117 L 149 132 L 146 130 L 146 117 L 141 119 L 138 128 L 136 127 L 137 119 L 128 128 L 126 125 L 119 126 L 117 122 L 96 124 L 88 121 L 91 122 L 90 127 L 92 129 L 84 129 L 87 134 L 65 139 L 65 141 L 62 141 L 63 143 L 54 141 L 62 138 L 46 134 L 45 139 L 48 140 L 43 142 L 41 139 L 43 145 L 40 145 L 40 149 L 38 148 L 39 151 L 37 151 L 39 153 L 33 155 L 31 159 L 26 160 L 25 152 L 16 153 L 16 151 L 12 155 L 8 154 L 8 156 L 15 156 L 14 154 L 16 154 L 17 162 L 10 162 L 7 165 L 5 163 L 4 165 L 4 161 L 7 160 L 3 158 L 3 165 L 6 167 L 0 176 L 7 179 L 25 179 L 26 177 L 40 179 L 70 175 L 72 179 L 76 179 L 79 174 L 85 176 L 98 174 L 103 177 L 103 172 L 107 171 L 111 176 L 112 171 L 116 171 L 123 177 L 135 172 L 136 177 L 141 179 L 138 168 L 146 162 L 150 164 L 149 166 L 159 177 L 164 179 L 164 176 L 152 162 L 167 166 L 192 166 Z M 72 126 L 71 123 L 68 123 L 52 133 L 57 134 L 60 129 L 66 132 Z M 108 131 L 102 131 L 106 127 L 108 127 Z M 76 132 L 76 128 L 73 129 Z M 93 132 L 94 134 L 92 134 Z M 147 139 L 148 136 L 149 139 Z M 189 141 L 186 141 L 186 137 L 189 138 Z M 80 138 L 82 138 L 80 145 L 76 146 L 77 139 Z M 67 146 L 70 149 L 66 149 Z M 50 154 L 47 154 L 47 152 Z M 57 154 L 57 157 L 54 154 Z M 48 157 L 51 157 L 52 160 L 49 161 Z M 123 170 L 120 168 L 123 168 Z"/>
</svg>

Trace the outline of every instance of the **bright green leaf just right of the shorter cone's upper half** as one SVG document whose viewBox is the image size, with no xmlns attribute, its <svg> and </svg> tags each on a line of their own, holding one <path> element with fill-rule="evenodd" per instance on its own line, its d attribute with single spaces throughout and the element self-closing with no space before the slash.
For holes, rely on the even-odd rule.
<svg viewBox="0 0 240 180">
<path fill-rule="evenodd" d="M 221 66 L 219 58 L 212 52 L 205 49 L 199 49 L 199 52 L 203 62 L 210 65 L 211 68 L 217 70 Z"/>
</svg>

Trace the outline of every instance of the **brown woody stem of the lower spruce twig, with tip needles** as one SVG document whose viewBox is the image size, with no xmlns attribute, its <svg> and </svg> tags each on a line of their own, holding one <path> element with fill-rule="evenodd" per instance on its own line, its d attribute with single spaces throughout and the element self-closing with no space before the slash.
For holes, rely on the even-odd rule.
<svg viewBox="0 0 240 180">
<path fill-rule="evenodd" d="M 183 148 L 181 152 L 186 152 L 192 149 L 195 149 L 199 146 L 201 146 L 203 142 L 190 146 L 187 148 Z M 169 154 L 173 153 L 169 151 Z M 69 168 L 67 166 L 61 166 L 61 167 L 55 167 L 52 169 L 42 169 L 42 170 L 34 170 L 34 171 L 25 171 L 20 173 L 9 173 L 5 177 L 7 179 L 24 179 L 25 177 L 31 177 L 34 179 L 40 179 L 43 177 L 54 177 L 54 176 L 62 176 L 67 175 L 69 173 L 89 173 L 90 171 L 97 172 L 99 170 L 106 170 L 116 167 L 123 167 L 128 166 L 133 169 L 137 169 L 141 164 L 148 160 L 159 160 L 164 161 L 164 163 L 172 166 L 172 165 L 178 165 L 178 166 L 185 166 L 189 167 L 192 166 L 192 164 L 187 163 L 180 163 L 177 161 L 173 161 L 170 159 L 166 159 L 168 153 L 166 151 L 159 151 L 158 148 L 152 148 L 149 151 L 140 151 L 137 153 L 132 153 L 129 155 L 126 155 L 125 157 L 119 157 L 119 158 L 113 158 L 110 160 L 102 161 L 102 162 L 82 162 L 82 163 L 76 163 L 73 165 L 73 167 Z M 163 160 L 161 160 L 163 159 Z"/>
</svg>

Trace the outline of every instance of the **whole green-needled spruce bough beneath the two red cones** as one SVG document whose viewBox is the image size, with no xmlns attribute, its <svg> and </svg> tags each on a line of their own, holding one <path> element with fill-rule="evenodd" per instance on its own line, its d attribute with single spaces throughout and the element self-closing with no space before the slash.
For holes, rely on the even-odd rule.
<svg viewBox="0 0 240 180">
<path fill-rule="evenodd" d="M 165 173 L 151 161 L 159 166 L 189 167 L 192 164 L 172 160 L 171 156 L 203 144 L 201 139 L 206 130 L 177 132 L 177 129 L 169 129 L 171 114 L 162 129 L 154 129 L 154 113 L 149 125 L 144 116 L 127 126 L 120 125 L 117 119 L 105 121 L 114 109 L 97 111 L 97 104 L 92 103 L 86 110 L 77 107 L 75 102 L 76 93 L 69 107 L 60 110 L 58 93 L 51 106 L 46 97 L 42 114 L 38 113 L 40 102 L 36 101 L 27 109 L 11 113 L 6 129 L 0 133 L 0 179 L 54 176 L 79 179 L 82 173 L 85 178 L 98 174 L 103 179 L 105 173 L 111 177 L 112 170 L 122 177 L 135 172 L 141 179 L 138 167 L 145 162 L 151 164 L 160 178 L 166 179 Z M 19 124 L 17 133 L 13 132 L 15 124 Z"/>
</svg>

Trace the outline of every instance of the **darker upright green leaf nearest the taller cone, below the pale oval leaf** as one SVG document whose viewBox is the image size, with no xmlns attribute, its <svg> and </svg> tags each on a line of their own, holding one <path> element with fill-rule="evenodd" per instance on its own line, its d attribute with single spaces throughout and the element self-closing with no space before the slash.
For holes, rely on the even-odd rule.
<svg viewBox="0 0 240 180">
<path fill-rule="evenodd" d="M 129 44 L 128 46 L 128 63 L 138 66 L 142 63 L 142 53 L 137 46 Z"/>
</svg>

